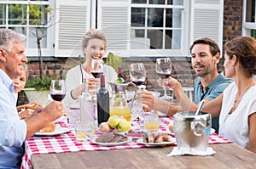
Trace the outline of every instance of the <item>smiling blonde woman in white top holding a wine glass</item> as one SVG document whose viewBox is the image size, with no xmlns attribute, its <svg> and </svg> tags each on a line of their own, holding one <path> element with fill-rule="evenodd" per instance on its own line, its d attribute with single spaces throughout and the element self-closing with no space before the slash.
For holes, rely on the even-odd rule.
<svg viewBox="0 0 256 169">
<path fill-rule="evenodd" d="M 99 87 L 99 79 L 91 74 L 90 65 L 92 59 L 102 60 L 106 54 L 107 39 L 102 31 L 90 29 L 82 37 L 82 50 L 84 53 L 85 62 L 82 65 L 77 65 L 67 71 L 66 88 L 67 95 L 64 99 L 65 104 L 73 104 L 79 99 L 79 95 L 84 92 L 83 79 L 86 79 L 88 89 L 96 89 Z M 117 74 L 113 67 L 109 65 L 103 66 L 103 74 L 106 82 L 114 82 Z M 108 87 L 108 85 L 106 85 Z M 110 88 L 108 88 L 110 89 Z"/>
</svg>

